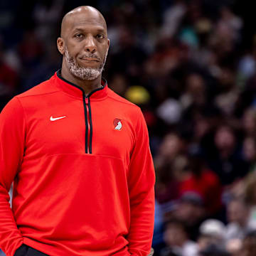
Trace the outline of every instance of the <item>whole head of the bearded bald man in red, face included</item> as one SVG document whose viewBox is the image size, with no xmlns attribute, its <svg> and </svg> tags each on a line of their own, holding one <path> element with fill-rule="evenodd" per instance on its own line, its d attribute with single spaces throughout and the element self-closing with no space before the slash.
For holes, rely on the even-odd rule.
<svg viewBox="0 0 256 256">
<path fill-rule="evenodd" d="M 106 21 L 100 11 L 91 6 L 73 9 L 64 16 L 60 35 L 57 47 L 63 55 L 63 78 L 76 84 L 97 80 L 100 85 L 110 47 Z"/>
</svg>

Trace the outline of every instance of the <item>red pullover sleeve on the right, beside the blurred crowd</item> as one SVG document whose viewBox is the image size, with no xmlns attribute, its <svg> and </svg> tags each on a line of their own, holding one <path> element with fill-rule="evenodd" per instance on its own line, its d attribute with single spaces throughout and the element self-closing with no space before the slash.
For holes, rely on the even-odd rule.
<svg viewBox="0 0 256 256">
<path fill-rule="evenodd" d="M 146 256 L 151 249 L 154 231 L 154 165 L 149 149 L 149 134 L 139 112 L 137 139 L 128 172 L 130 228 L 127 240 L 131 255 Z"/>
</svg>

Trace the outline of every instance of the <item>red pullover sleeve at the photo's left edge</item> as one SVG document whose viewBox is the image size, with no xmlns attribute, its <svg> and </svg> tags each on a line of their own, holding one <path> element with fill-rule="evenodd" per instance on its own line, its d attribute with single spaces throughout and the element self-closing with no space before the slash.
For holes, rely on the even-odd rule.
<svg viewBox="0 0 256 256">
<path fill-rule="evenodd" d="M 0 247 L 7 256 L 23 243 L 9 204 L 9 189 L 23 159 L 24 140 L 23 108 L 14 97 L 0 114 Z"/>
</svg>

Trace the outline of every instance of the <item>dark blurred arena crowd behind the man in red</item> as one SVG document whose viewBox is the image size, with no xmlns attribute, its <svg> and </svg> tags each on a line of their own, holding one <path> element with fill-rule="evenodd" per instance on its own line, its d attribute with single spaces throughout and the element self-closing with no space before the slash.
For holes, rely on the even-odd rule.
<svg viewBox="0 0 256 256">
<path fill-rule="evenodd" d="M 255 256 L 255 10 L 235 0 L 0 0 L 0 110 L 60 68 L 61 19 L 81 5 L 105 16 L 103 76 L 149 128 L 154 255 Z"/>
</svg>

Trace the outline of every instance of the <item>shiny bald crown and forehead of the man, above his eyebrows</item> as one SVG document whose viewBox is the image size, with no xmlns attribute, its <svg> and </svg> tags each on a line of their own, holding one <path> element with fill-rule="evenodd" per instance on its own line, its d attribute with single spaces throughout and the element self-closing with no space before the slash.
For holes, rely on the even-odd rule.
<svg viewBox="0 0 256 256">
<path fill-rule="evenodd" d="M 68 14 L 65 14 L 61 23 L 60 36 L 65 37 L 66 33 L 74 26 L 79 25 L 80 22 L 87 22 L 92 25 L 100 25 L 107 31 L 107 24 L 105 18 L 102 16 L 100 11 L 92 6 L 79 6 Z"/>
</svg>

